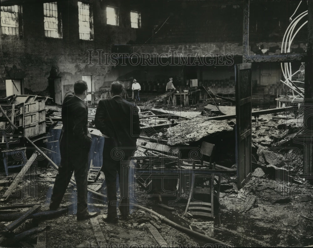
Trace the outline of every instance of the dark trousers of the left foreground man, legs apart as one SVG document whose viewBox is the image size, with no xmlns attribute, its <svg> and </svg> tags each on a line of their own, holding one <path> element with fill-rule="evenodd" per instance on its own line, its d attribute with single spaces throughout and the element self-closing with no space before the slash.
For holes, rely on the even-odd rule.
<svg viewBox="0 0 313 248">
<path fill-rule="evenodd" d="M 77 188 L 77 213 L 84 213 L 87 211 L 87 175 L 89 154 L 87 151 L 83 151 L 83 153 L 86 154 L 80 154 L 80 159 L 75 159 L 73 156 L 71 158 L 69 152 L 61 152 L 61 163 L 54 182 L 50 209 L 59 207 L 74 172 Z"/>
</svg>

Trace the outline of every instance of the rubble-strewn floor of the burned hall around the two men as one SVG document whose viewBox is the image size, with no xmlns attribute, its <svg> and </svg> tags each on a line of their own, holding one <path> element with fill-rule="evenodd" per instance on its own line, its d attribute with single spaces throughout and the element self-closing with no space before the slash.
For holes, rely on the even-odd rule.
<svg viewBox="0 0 313 248">
<path fill-rule="evenodd" d="M 210 109 L 214 108 L 212 105 L 207 105 L 205 111 L 207 114 L 214 113 L 214 111 L 210 112 Z M 135 203 L 152 209 L 180 226 L 233 246 L 311 245 L 313 243 L 310 230 L 313 221 L 311 207 L 313 187 L 300 177 L 303 148 L 293 140 L 299 131 L 301 117 L 296 118 L 294 113 L 279 113 L 260 115 L 253 119 L 254 173 L 248 183 L 238 190 L 234 157 L 235 119 L 210 120 L 207 119 L 210 114 L 201 115 L 195 106 L 185 107 L 181 112 L 180 110 L 178 107 L 166 109 L 167 113 L 181 116 L 179 119 L 174 119 L 175 116 L 172 116 L 171 119 L 174 121 L 170 120 L 170 122 L 175 125 L 165 127 L 166 132 L 152 136 L 142 134 L 142 137 L 149 136 L 147 142 L 155 143 L 156 140 L 164 147 L 178 148 L 182 157 L 184 150 L 187 151 L 189 148 L 190 151 L 192 147 L 200 147 L 203 141 L 216 144 L 214 159 L 221 166 L 219 169 L 224 166 L 233 171 L 221 174 L 219 208 L 216 210 L 215 220 L 184 216 L 188 188 L 182 191 L 181 197 L 177 198 L 177 195 L 170 196 L 167 192 L 156 194 L 155 191 L 143 187 L 142 182 L 134 181 L 131 188 L 136 192 Z M 220 110 L 224 114 L 234 114 L 235 107 L 220 106 Z M 90 119 L 93 111 L 90 110 Z M 142 108 L 142 113 L 145 111 L 146 109 Z M 164 109 L 159 111 L 162 112 Z M 158 113 L 161 115 L 160 112 Z M 55 112 L 51 119 L 57 119 L 57 115 L 58 113 Z M 151 119 L 156 121 L 155 117 L 145 118 L 146 121 L 150 121 L 150 125 Z M 157 119 L 158 123 L 154 122 L 155 125 L 166 121 L 162 120 L 164 119 L 162 116 Z M 161 130 L 164 131 L 164 127 Z M 141 139 L 144 139 L 142 137 Z M 140 144 L 142 148 L 142 143 Z M 158 149 L 155 149 L 149 156 L 153 156 L 156 161 L 163 156 L 171 158 L 177 155 L 175 152 L 166 153 L 166 149 L 164 151 L 164 154 L 160 154 Z M 137 162 L 136 168 L 140 168 L 143 163 L 140 160 Z M 6 192 L 17 173 L 18 170 L 13 169 L 8 176 L 2 172 L 1 195 Z M 23 220 L 12 228 L 12 231 L 8 231 L 7 227 L 11 227 L 14 220 L 32 207 L 12 209 L 13 205 L 41 205 L 40 210 L 37 210 L 39 213 L 48 210 L 55 175 L 56 169 L 53 166 L 39 163 L 36 169 L 25 173 L 23 180 L 18 183 L 8 200 L 2 199 L 0 203 L 1 246 L 108 247 L 109 244 L 109 247 L 129 247 L 131 244 L 137 244 L 140 247 L 157 247 L 166 243 L 168 247 L 188 245 L 202 247 L 209 244 L 207 240 L 187 235 L 167 225 L 160 218 L 137 208 L 131 209 L 129 220 L 107 224 L 102 220 L 102 214 L 107 210 L 106 200 L 93 193 L 89 193 L 89 209 L 100 211 L 100 215 L 90 220 L 76 221 L 76 189 L 72 184 L 69 184 L 63 200 L 63 206 L 69 206 L 67 213 L 55 213 L 49 218 L 42 217 L 44 214 L 40 218 L 40 214 L 36 216 L 34 213 L 33 216 L 28 217 L 29 219 Z M 103 179 L 103 175 L 100 175 L 99 181 Z M 90 184 L 89 187 L 105 194 L 105 182 Z M 163 194 L 161 198 L 160 194 Z M 169 204 L 175 199 L 175 204 Z M 23 233 L 24 231 L 28 233 Z"/>
</svg>

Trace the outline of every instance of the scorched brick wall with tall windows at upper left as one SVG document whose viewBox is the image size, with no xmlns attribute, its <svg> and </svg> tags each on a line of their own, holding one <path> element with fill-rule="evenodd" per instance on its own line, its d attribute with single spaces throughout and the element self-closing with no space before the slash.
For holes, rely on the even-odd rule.
<svg viewBox="0 0 313 248">
<path fill-rule="evenodd" d="M 23 79 L 24 94 L 49 96 L 49 76 L 62 77 L 64 91 L 73 90 L 73 83 L 83 75 L 94 75 L 95 89 L 105 84 L 110 66 L 87 65 L 87 50 L 110 52 L 113 44 L 136 40 L 131 28 L 130 10 L 137 8 L 122 1 L 92 2 L 94 40 L 79 39 L 77 1 L 59 1 L 63 38 L 44 36 L 42 3 L 23 4 L 23 36 L 1 35 L 3 64 L 0 65 L 0 96 L 5 96 L 5 80 Z M 124 1 L 123 1 L 124 2 Z M 106 24 L 106 6 L 119 8 L 119 26 Z M 9 77 L 10 76 L 10 77 Z"/>
</svg>

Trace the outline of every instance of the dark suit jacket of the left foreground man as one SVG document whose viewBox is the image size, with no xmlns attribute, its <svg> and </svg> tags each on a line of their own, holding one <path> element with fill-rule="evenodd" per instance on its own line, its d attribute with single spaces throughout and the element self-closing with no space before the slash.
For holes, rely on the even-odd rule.
<svg viewBox="0 0 313 248">
<path fill-rule="evenodd" d="M 88 107 L 83 100 L 68 93 L 62 104 L 61 154 L 71 157 L 89 154 L 91 136 L 88 131 Z"/>
</svg>

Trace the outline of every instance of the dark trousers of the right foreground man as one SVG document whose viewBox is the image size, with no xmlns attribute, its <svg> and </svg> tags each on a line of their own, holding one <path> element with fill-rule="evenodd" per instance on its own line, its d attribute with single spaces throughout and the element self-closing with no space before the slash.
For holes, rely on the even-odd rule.
<svg viewBox="0 0 313 248">
<path fill-rule="evenodd" d="M 125 156 L 122 160 L 114 160 L 110 156 L 103 153 L 102 171 L 105 176 L 108 216 L 114 218 L 117 216 L 116 206 L 119 205 L 122 216 L 129 214 L 129 163 L 131 157 Z M 120 180 L 120 202 L 118 204 L 116 197 L 116 179 L 117 173 Z"/>
</svg>

